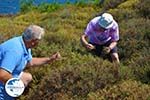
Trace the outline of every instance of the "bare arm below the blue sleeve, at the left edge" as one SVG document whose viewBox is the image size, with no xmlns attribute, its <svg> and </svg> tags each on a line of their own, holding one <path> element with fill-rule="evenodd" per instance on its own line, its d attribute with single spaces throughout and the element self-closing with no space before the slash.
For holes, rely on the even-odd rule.
<svg viewBox="0 0 150 100">
<path fill-rule="evenodd" d="M 6 83 L 10 78 L 12 78 L 12 75 L 4 70 L 4 69 L 0 69 L 0 81 L 3 83 Z"/>
</svg>

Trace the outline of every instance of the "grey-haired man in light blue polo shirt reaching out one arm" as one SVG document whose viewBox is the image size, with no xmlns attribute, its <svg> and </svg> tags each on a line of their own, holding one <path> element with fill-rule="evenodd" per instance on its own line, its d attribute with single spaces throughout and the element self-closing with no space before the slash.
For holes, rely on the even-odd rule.
<svg viewBox="0 0 150 100">
<path fill-rule="evenodd" d="M 57 52 L 50 57 L 32 57 L 31 48 L 38 45 L 44 35 L 44 29 L 37 25 L 30 25 L 22 36 L 14 37 L 0 44 L 0 100 L 13 100 L 5 91 L 5 83 L 11 78 L 20 78 L 27 86 L 32 75 L 23 72 L 26 66 L 35 66 L 51 63 L 59 59 Z"/>
</svg>

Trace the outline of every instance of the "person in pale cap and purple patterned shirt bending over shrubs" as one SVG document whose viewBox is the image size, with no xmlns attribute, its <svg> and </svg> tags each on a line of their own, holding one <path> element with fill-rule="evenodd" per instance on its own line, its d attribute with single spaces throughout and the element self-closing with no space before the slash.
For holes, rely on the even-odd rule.
<svg viewBox="0 0 150 100">
<path fill-rule="evenodd" d="M 81 41 L 88 50 L 94 51 L 98 56 L 109 54 L 112 62 L 116 63 L 119 63 L 118 40 L 118 24 L 109 13 L 103 13 L 101 16 L 93 18 L 81 36 Z"/>
</svg>

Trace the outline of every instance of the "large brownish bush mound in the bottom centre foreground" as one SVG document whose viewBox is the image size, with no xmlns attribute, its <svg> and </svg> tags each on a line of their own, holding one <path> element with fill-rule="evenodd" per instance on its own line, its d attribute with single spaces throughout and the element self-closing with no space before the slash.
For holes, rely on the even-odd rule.
<svg viewBox="0 0 150 100">
<path fill-rule="evenodd" d="M 44 98 L 59 100 L 59 96 L 57 98 L 55 95 L 62 94 L 86 97 L 90 91 L 103 89 L 117 81 L 115 78 L 117 70 L 107 61 L 97 59 L 84 64 L 76 63 L 67 64 L 62 70 L 55 70 L 47 75 L 41 82 L 39 91 L 30 99 L 39 96 L 38 100 Z"/>
</svg>

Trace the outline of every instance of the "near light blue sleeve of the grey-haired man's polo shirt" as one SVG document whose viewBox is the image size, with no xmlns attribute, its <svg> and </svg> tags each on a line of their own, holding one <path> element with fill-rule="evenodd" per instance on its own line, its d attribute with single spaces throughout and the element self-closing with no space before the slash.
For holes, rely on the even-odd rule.
<svg viewBox="0 0 150 100">
<path fill-rule="evenodd" d="M 19 58 L 15 51 L 7 51 L 3 55 L 0 68 L 12 73 L 19 62 Z"/>
</svg>

